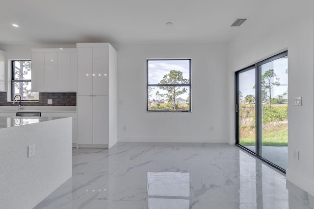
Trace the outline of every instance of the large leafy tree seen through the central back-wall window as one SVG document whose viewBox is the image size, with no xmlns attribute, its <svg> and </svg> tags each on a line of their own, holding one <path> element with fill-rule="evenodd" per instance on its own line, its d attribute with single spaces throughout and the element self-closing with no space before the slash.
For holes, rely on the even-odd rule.
<svg viewBox="0 0 314 209">
<path fill-rule="evenodd" d="M 171 85 L 171 84 L 188 84 L 189 80 L 183 78 L 183 73 L 180 70 L 170 70 L 169 74 L 163 76 L 163 79 L 159 84 Z M 167 93 L 162 94 L 164 97 L 168 97 L 168 101 L 173 103 L 173 110 L 176 110 L 176 98 L 186 93 L 186 89 L 181 86 L 159 86 L 159 89 L 166 90 Z"/>
</svg>

